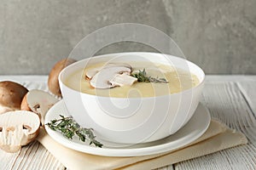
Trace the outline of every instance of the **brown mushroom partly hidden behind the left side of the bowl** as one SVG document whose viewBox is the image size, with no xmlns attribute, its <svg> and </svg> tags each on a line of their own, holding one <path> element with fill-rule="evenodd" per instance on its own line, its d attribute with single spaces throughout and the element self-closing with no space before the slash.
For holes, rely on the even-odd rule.
<svg viewBox="0 0 256 170">
<path fill-rule="evenodd" d="M 49 72 L 48 77 L 48 88 L 52 94 L 61 97 L 61 89 L 58 80 L 59 74 L 62 71 L 62 69 L 64 69 L 67 65 L 73 64 L 74 62 L 76 62 L 75 59 L 61 59 L 60 61 L 55 63 L 55 65 Z"/>
</svg>

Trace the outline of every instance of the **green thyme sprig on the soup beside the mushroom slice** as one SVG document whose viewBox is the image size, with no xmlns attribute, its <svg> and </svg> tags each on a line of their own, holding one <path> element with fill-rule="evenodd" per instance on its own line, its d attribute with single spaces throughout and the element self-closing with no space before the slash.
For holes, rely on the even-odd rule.
<svg viewBox="0 0 256 170">
<path fill-rule="evenodd" d="M 148 77 L 147 72 L 146 72 L 145 69 L 143 69 L 143 71 L 139 70 L 138 72 L 131 74 L 131 76 L 136 77 L 137 82 L 164 82 L 164 83 L 168 83 L 168 81 L 166 81 L 166 78 Z"/>
</svg>

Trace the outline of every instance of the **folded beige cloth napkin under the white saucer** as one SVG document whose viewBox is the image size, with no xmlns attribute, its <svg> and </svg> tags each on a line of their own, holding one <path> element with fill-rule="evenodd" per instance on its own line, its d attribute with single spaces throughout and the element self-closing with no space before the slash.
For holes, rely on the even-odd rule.
<svg viewBox="0 0 256 170">
<path fill-rule="evenodd" d="M 212 120 L 207 132 L 193 143 L 178 150 L 149 156 L 110 157 L 95 156 L 71 150 L 51 139 L 44 128 L 38 141 L 55 156 L 56 159 L 72 170 L 79 169 L 153 169 L 164 167 L 179 161 L 205 156 L 218 150 L 224 150 L 239 144 L 247 144 L 243 133 L 226 127 L 221 122 Z"/>
</svg>

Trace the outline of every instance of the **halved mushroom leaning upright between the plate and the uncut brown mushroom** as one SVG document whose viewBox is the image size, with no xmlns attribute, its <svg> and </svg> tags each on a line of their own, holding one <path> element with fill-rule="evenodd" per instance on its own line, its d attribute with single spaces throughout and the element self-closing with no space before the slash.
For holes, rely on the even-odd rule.
<svg viewBox="0 0 256 170">
<path fill-rule="evenodd" d="M 46 112 L 55 105 L 58 99 L 43 90 L 30 90 L 22 100 L 20 109 L 24 111 L 33 111 L 38 114 L 44 125 L 44 116 Z"/>
</svg>

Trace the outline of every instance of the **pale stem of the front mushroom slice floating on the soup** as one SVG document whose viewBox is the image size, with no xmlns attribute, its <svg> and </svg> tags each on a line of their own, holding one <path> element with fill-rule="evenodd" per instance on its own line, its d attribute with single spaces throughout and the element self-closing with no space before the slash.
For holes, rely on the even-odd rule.
<svg viewBox="0 0 256 170">
<path fill-rule="evenodd" d="M 111 81 L 109 81 L 113 86 L 131 86 L 134 82 L 137 82 L 136 77 L 131 77 L 130 75 L 123 73 L 117 74 Z"/>
</svg>

